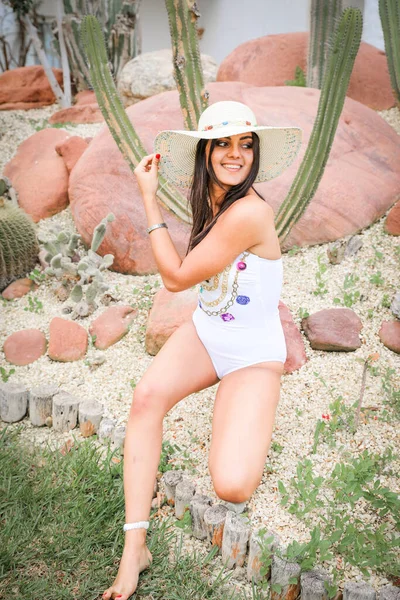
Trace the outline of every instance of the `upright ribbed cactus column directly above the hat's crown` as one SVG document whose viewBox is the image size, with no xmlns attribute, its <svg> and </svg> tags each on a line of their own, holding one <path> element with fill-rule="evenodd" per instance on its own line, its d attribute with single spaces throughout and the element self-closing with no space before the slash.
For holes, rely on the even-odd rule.
<svg viewBox="0 0 400 600">
<path fill-rule="evenodd" d="M 186 129 L 197 129 L 208 105 L 197 35 L 200 16 L 193 0 L 165 0 L 172 41 L 175 81 Z"/>
</svg>

